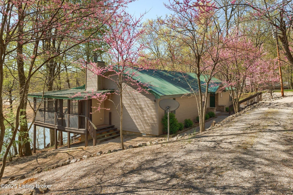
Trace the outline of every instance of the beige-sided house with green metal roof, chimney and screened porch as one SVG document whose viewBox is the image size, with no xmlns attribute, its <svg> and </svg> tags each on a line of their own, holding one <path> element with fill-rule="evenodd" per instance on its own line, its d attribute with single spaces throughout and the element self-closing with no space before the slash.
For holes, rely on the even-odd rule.
<svg viewBox="0 0 293 195">
<path fill-rule="evenodd" d="M 97 62 L 104 66 L 104 62 Z M 161 122 L 165 111 L 159 107 L 162 99 L 175 99 L 180 103 L 179 108 L 174 111 L 178 122 L 186 118 L 195 121 L 198 116 L 197 101 L 191 92 L 198 91 L 197 79 L 194 73 L 179 73 L 166 70 L 142 70 L 134 76 L 135 80 L 141 83 L 149 83 L 148 92 L 137 92 L 135 87 L 127 85 L 123 92 L 123 133 L 138 134 L 144 136 L 158 136 L 162 134 L 163 124 Z M 187 82 L 188 81 L 188 82 Z M 202 92 L 205 92 L 202 83 Z M 219 88 L 219 86 L 218 86 Z M 214 96 L 214 104 L 210 101 L 207 105 L 216 106 L 220 103 L 229 102 L 226 92 L 221 99 L 219 89 L 213 87 L 208 98 Z M 93 145 L 96 141 L 119 136 L 117 128 L 120 127 L 120 117 L 116 110 L 119 103 L 119 96 L 115 94 L 116 84 L 107 78 L 94 75 L 86 70 L 86 85 L 84 87 L 31 93 L 34 99 L 36 117 L 34 121 L 34 152 L 35 152 L 35 131 L 36 126 L 54 129 L 55 148 L 57 148 L 57 131 L 67 132 L 68 147 L 70 140 L 81 135 L 80 139 L 88 145 L 90 137 Z M 108 99 L 101 103 L 102 108 L 97 110 L 97 99 L 91 99 L 92 93 L 111 93 Z M 225 99 L 225 100 L 224 100 Z M 114 103 L 115 104 L 114 104 Z M 75 134 L 71 137 L 71 134 Z M 90 135 L 90 136 L 89 136 Z"/>
</svg>

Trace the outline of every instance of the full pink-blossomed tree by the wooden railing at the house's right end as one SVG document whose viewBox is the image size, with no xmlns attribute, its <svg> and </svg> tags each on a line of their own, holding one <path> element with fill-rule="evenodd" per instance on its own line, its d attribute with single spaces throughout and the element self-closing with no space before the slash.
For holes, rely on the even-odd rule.
<svg viewBox="0 0 293 195">
<path fill-rule="evenodd" d="M 234 111 L 239 111 L 239 99 L 245 88 L 246 81 L 249 80 L 259 70 L 260 57 L 263 55 L 262 49 L 254 46 L 253 42 L 239 31 L 233 35 L 225 37 L 226 44 L 221 58 L 224 60 L 217 67 L 224 75 L 224 86 L 228 88 Z"/>
</svg>

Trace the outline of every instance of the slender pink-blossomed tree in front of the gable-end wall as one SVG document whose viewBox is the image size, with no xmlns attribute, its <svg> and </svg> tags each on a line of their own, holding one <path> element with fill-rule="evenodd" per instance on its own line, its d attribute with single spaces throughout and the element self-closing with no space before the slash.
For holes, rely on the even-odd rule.
<svg viewBox="0 0 293 195">
<path fill-rule="evenodd" d="M 138 63 L 141 51 L 144 45 L 137 43 L 139 36 L 144 30 L 138 30 L 140 19 L 134 19 L 131 15 L 122 10 L 119 14 L 113 16 L 113 21 L 108 22 L 108 33 L 103 36 L 103 41 L 108 44 L 106 52 L 111 59 L 105 67 L 99 67 L 92 63 L 93 68 L 89 68 L 95 75 L 110 79 L 116 84 L 115 95 L 120 97 L 120 101 L 114 102 L 115 108 L 120 116 L 120 139 L 121 147 L 123 144 L 123 93 L 127 85 L 132 85 L 139 92 L 147 92 L 144 85 L 134 79 L 140 70 L 147 69 L 147 65 Z M 105 94 L 96 94 L 92 96 L 96 99 L 105 99 Z M 117 105 L 116 105 L 117 104 Z"/>
</svg>

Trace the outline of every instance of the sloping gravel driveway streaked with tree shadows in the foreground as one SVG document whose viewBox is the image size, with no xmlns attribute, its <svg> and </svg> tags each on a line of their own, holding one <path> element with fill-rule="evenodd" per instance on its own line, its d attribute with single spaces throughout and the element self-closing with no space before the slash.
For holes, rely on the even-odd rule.
<svg viewBox="0 0 293 195">
<path fill-rule="evenodd" d="M 293 94 L 285 95 L 195 137 L 33 177 L 52 185 L 47 194 L 293 194 Z M 5 192 L 19 191 L 28 189 Z"/>
</svg>

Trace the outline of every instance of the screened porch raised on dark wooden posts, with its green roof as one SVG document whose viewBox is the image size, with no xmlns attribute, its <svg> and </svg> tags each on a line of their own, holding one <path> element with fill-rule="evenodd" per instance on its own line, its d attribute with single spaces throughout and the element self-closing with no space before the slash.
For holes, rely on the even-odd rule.
<svg viewBox="0 0 293 195">
<path fill-rule="evenodd" d="M 36 150 L 36 126 L 54 129 L 55 149 L 57 149 L 57 131 L 67 132 L 67 145 L 76 135 L 85 136 L 85 146 L 88 145 L 88 135 L 91 134 L 92 121 L 92 94 L 113 92 L 113 90 L 85 90 L 85 89 L 67 89 L 50 92 L 31 93 L 28 96 L 33 97 L 35 121 L 33 152 Z M 70 136 L 70 134 L 75 134 Z"/>
</svg>

